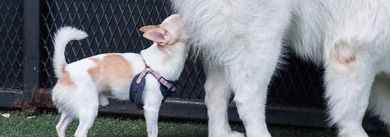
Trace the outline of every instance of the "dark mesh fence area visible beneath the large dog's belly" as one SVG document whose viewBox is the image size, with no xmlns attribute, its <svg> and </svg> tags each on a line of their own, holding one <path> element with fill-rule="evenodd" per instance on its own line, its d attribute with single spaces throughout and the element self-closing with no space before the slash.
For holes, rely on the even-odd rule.
<svg viewBox="0 0 390 137">
<path fill-rule="evenodd" d="M 277 70 L 268 86 L 268 103 L 324 107 L 323 70 L 294 57 L 291 52 L 287 55 L 284 60 L 288 64 Z"/>
</svg>

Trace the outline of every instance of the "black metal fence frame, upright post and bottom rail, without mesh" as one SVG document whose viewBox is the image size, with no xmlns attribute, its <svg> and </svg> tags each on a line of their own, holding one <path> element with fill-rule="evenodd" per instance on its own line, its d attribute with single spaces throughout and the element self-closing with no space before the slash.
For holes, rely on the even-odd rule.
<svg viewBox="0 0 390 137">
<path fill-rule="evenodd" d="M 41 60 L 43 56 L 41 43 L 41 4 L 40 0 L 23 0 L 23 89 L 22 90 L 1 90 L 0 107 L 23 107 L 23 105 L 40 108 L 54 109 L 50 103 L 36 101 L 44 98 L 50 100 L 50 91 L 43 89 L 44 66 Z M 28 62 L 28 63 L 27 63 Z M 37 94 L 37 91 L 45 91 L 44 95 Z M 37 98 L 39 97 L 39 98 Z M 143 112 L 135 109 L 129 101 L 117 101 L 109 98 L 110 105 L 100 108 L 99 112 L 142 115 Z M 49 105 L 48 105 L 49 104 Z M 21 105 L 21 106 L 20 106 Z M 240 121 L 234 105 L 229 107 L 229 120 Z M 294 125 L 312 126 L 326 128 L 326 116 L 323 108 L 318 107 L 296 107 L 284 105 L 268 105 L 266 108 L 267 123 L 271 125 Z M 161 117 L 186 118 L 186 119 L 207 119 L 207 108 L 203 100 L 189 100 L 168 98 L 161 106 Z M 371 118 L 363 121 L 366 130 L 381 130 L 378 123 L 372 122 Z"/>
</svg>

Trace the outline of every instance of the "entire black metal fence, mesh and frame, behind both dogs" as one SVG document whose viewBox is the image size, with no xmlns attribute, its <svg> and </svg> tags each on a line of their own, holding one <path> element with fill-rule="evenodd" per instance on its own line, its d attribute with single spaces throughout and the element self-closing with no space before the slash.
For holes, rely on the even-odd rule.
<svg viewBox="0 0 390 137">
<path fill-rule="evenodd" d="M 165 0 L 3 0 L 0 2 L 0 87 L 3 89 L 0 96 L 4 95 L 7 100 L 0 101 L 0 107 L 15 105 L 13 102 L 17 100 L 32 101 L 38 107 L 50 106 L 46 102 L 50 100 L 48 89 L 56 83 L 51 62 L 54 49 L 52 39 L 53 32 L 59 27 L 71 25 L 89 34 L 86 39 L 72 41 L 67 45 L 65 55 L 69 63 L 102 53 L 139 53 L 152 44 L 141 37 L 139 28 L 160 24 L 170 14 L 169 3 Z M 288 53 L 285 61 L 289 64 L 278 70 L 269 84 L 268 104 L 273 107 L 268 117 L 271 117 L 271 122 L 277 116 L 286 116 L 294 121 L 274 122 L 277 124 L 305 125 L 302 121 L 310 123 L 314 120 L 317 122 L 306 125 L 324 126 L 322 69 L 302 62 L 292 53 Z M 179 85 L 183 88 L 170 98 L 172 104 L 182 103 L 181 107 L 167 105 L 168 108 L 162 111 L 175 110 L 175 113 L 183 114 L 188 112 L 184 107 L 190 107 L 187 109 L 191 109 L 193 114 L 170 116 L 164 113 L 163 116 L 207 116 L 202 105 L 205 80 L 206 74 L 200 60 L 194 62 L 188 59 L 179 78 Z M 133 110 L 124 109 L 131 105 L 113 103 L 110 106 L 122 110 L 101 110 L 137 114 Z M 315 112 L 313 119 L 294 119 L 308 112 Z"/>
</svg>

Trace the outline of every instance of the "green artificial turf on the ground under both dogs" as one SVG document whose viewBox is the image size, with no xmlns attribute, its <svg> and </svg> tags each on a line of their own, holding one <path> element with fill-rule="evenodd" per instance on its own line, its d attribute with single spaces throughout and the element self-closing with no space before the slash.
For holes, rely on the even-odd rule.
<svg viewBox="0 0 390 137">
<path fill-rule="evenodd" d="M 37 115 L 35 111 L 0 111 L 11 114 L 9 118 L 0 116 L 0 137 L 57 137 L 55 125 L 59 115 L 55 113 Z M 28 116 L 36 116 L 27 119 Z M 78 121 L 74 120 L 66 131 L 73 137 Z M 232 129 L 244 132 L 243 125 L 231 124 Z M 269 126 L 273 137 L 335 137 L 334 130 L 297 128 L 291 126 Z M 207 137 L 207 124 L 199 121 L 159 120 L 159 137 Z M 384 137 L 383 133 L 369 133 L 370 137 Z M 142 118 L 98 116 L 89 130 L 88 137 L 146 137 L 145 121 Z"/>
</svg>

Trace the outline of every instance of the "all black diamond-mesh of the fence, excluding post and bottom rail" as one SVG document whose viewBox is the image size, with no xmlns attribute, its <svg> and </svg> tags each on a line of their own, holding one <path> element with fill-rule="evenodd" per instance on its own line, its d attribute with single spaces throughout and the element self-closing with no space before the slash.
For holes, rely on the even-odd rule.
<svg viewBox="0 0 390 137">
<path fill-rule="evenodd" d="M 2 17 L 0 38 L 0 87 L 18 88 L 21 75 L 23 4 L 21 0 L 0 2 Z M 53 32 L 61 26 L 85 30 L 89 37 L 72 41 L 66 47 L 68 63 L 102 53 L 139 53 L 151 41 L 141 37 L 139 28 L 160 24 L 171 14 L 166 0 L 44 0 L 41 3 L 41 43 L 43 52 L 43 87 L 56 83 L 51 56 Z M 321 69 L 296 59 L 292 53 L 285 58 L 288 65 L 278 70 L 269 85 L 268 103 L 323 107 Z M 188 59 L 179 78 L 181 91 L 176 98 L 204 99 L 206 74 L 201 62 Z"/>
</svg>

